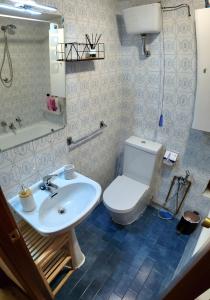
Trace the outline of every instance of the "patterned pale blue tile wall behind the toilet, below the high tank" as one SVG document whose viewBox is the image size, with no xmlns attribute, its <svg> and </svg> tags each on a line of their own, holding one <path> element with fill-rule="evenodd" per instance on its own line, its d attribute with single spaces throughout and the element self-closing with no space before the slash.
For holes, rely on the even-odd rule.
<svg viewBox="0 0 210 300">
<path fill-rule="evenodd" d="M 136 64 L 132 69 L 124 65 L 124 72 L 131 72 L 135 79 L 138 79 L 128 83 L 127 86 L 127 89 L 134 89 L 136 92 L 135 109 L 130 114 L 130 119 L 134 120 L 133 126 L 130 131 L 125 132 L 124 138 L 133 133 L 159 141 L 168 149 L 179 152 L 180 160 L 175 168 L 163 167 L 162 184 L 155 200 L 163 203 L 173 176 L 175 174 L 184 175 L 185 169 L 189 169 L 192 173 L 193 185 L 183 209 L 196 209 L 205 215 L 210 208 L 210 201 L 202 197 L 202 192 L 209 180 L 210 135 L 191 129 L 196 89 L 194 9 L 204 7 L 204 1 L 188 0 L 185 2 L 191 7 L 191 18 L 187 16 L 185 8 L 163 13 L 166 68 L 163 128 L 158 127 L 160 94 L 162 93 L 161 80 L 156 79 L 155 81 L 155 76 L 163 74 L 163 57 L 161 54 L 157 56 L 155 52 L 152 52 L 149 59 L 142 59 L 137 52 L 134 54 L 129 47 L 124 47 L 122 42 L 122 46 L 127 50 L 127 59 L 135 60 Z M 142 3 L 144 1 L 141 0 L 120 1 L 119 11 Z M 178 5 L 181 4 L 181 1 L 162 1 L 162 4 L 165 6 Z M 120 32 L 122 33 L 121 39 L 127 41 L 128 35 L 123 28 Z M 160 34 L 160 44 L 162 39 Z M 136 45 L 136 38 L 129 37 L 129 43 Z M 149 46 L 151 49 L 153 48 L 152 43 Z M 163 49 L 163 44 L 160 45 L 160 48 Z M 139 49 L 139 51 L 141 50 Z M 152 68 L 157 72 L 154 76 L 151 76 L 150 69 Z M 157 93 L 154 92 L 154 87 L 157 88 Z M 127 98 L 128 103 L 130 97 L 131 95 Z M 124 101 L 126 102 L 126 98 Z M 125 103 L 123 107 L 123 118 L 128 119 Z"/>
</svg>

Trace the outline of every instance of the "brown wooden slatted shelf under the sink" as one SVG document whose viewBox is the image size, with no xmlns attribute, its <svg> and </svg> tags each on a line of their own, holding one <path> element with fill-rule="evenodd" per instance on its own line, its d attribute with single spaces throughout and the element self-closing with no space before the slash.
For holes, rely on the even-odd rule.
<svg viewBox="0 0 210 300">
<path fill-rule="evenodd" d="M 21 221 L 18 226 L 29 252 L 49 288 L 50 283 L 64 268 L 69 269 L 65 277 L 51 290 L 52 297 L 54 297 L 74 272 L 68 234 L 65 233 L 58 237 L 42 236 L 24 221 Z"/>
</svg>

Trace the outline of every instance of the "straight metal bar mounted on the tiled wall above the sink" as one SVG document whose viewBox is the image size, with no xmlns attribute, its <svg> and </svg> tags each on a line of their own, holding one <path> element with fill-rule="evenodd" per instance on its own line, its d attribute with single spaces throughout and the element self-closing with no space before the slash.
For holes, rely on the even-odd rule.
<svg viewBox="0 0 210 300">
<path fill-rule="evenodd" d="M 83 136 L 80 139 L 77 139 L 76 141 L 73 141 L 73 138 L 71 136 L 68 137 L 67 138 L 67 145 L 69 146 L 69 150 L 73 150 L 73 149 L 89 142 L 90 140 L 97 137 L 98 135 L 102 134 L 103 129 L 106 128 L 106 127 L 107 127 L 107 125 L 104 123 L 104 121 L 101 121 L 99 129 L 94 130 L 93 132 Z"/>
</svg>

